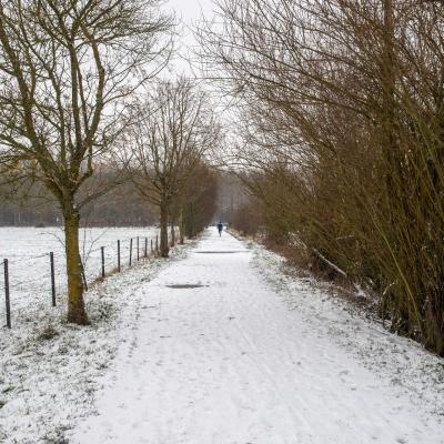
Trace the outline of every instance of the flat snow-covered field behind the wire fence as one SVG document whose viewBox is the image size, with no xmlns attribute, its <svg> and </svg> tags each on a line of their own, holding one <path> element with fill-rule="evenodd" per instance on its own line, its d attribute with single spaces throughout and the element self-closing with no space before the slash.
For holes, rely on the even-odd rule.
<svg viewBox="0 0 444 444">
<path fill-rule="evenodd" d="M 155 228 L 81 229 L 80 250 L 88 282 L 101 274 L 101 251 L 104 246 L 105 271 L 117 268 L 118 240 L 121 241 L 121 264 L 129 264 L 130 239 L 133 239 L 132 259 L 137 260 L 137 236 L 140 255 L 144 254 L 144 239 L 155 240 Z M 54 253 L 57 295 L 67 289 L 63 230 L 61 228 L 0 228 L 0 260 L 8 259 L 12 322 L 29 315 L 36 303 L 51 304 L 51 274 L 49 253 Z M 3 266 L 0 264 L 0 325 L 4 316 Z"/>
</svg>

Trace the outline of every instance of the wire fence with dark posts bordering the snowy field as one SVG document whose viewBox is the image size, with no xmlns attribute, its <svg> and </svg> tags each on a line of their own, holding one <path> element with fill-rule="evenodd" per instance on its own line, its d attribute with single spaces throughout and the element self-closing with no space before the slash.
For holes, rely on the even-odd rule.
<svg viewBox="0 0 444 444">
<path fill-rule="evenodd" d="M 158 253 L 159 235 L 132 236 L 83 250 L 81 265 L 84 290 L 88 291 L 88 286 L 95 281 L 129 269 Z M 67 294 L 65 256 L 60 251 L 3 259 L 0 270 L 1 268 L 0 291 L 4 294 L 4 303 L 0 304 L 0 319 L 6 321 L 8 329 L 18 321 L 14 319 L 16 313 L 43 301 L 47 301 L 48 306 L 57 306 Z M 33 270 L 37 270 L 37 275 Z"/>
</svg>

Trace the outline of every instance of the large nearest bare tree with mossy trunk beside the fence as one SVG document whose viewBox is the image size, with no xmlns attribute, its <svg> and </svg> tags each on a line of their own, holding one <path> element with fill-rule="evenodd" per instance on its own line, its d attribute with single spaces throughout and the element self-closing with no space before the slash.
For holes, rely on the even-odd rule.
<svg viewBox="0 0 444 444">
<path fill-rule="evenodd" d="M 171 19 L 158 0 L 1 0 L 0 157 L 57 199 L 69 322 L 85 324 L 79 190 L 121 132 L 127 98 L 164 64 Z"/>
</svg>

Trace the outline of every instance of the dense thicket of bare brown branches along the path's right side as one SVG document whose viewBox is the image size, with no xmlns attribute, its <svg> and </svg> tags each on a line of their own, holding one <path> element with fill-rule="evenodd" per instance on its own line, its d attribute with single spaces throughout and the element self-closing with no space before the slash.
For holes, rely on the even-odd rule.
<svg viewBox="0 0 444 444">
<path fill-rule="evenodd" d="M 266 233 L 444 355 L 444 3 L 218 3 L 202 56 L 242 104 L 230 163 Z"/>
</svg>

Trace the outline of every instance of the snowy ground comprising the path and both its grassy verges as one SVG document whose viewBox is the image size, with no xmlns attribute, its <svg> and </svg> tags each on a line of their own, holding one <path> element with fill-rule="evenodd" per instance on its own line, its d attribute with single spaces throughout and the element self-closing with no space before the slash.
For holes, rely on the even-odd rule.
<svg viewBox="0 0 444 444">
<path fill-rule="evenodd" d="M 444 444 L 444 361 L 254 243 L 209 230 L 87 306 L 4 331 L 2 444 Z"/>
</svg>

